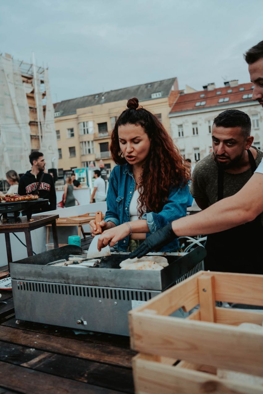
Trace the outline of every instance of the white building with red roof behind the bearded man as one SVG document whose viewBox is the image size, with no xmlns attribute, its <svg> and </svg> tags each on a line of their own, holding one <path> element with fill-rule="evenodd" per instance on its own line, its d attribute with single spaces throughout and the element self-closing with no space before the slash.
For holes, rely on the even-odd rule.
<svg viewBox="0 0 263 394">
<path fill-rule="evenodd" d="M 224 87 L 214 84 L 202 91 L 181 94 L 170 111 L 170 129 L 173 140 L 185 158 L 192 162 L 203 159 L 212 149 L 212 126 L 215 117 L 228 109 L 247 113 L 251 119 L 253 145 L 263 149 L 263 112 L 252 101 L 253 84 L 225 82 Z"/>
</svg>

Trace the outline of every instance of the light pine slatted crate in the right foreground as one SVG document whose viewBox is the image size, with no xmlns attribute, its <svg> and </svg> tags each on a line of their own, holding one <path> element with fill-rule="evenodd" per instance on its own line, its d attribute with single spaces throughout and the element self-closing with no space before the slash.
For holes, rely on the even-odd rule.
<svg viewBox="0 0 263 394">
<path fill-rule="evenodd" d="M 132 363 L 136 393 L 263 393 L 262 385 L 216 375 L 219 368 L 263 377 L 263 333 L 238 327 L 262 325 L 263 313 L 215 301 L 263 306 L 263 276 L 200 271 L 129 312 L 131 348 L 140 352 Z M 198 304 L 186 319 L 169 316 Z"/>
</svg>

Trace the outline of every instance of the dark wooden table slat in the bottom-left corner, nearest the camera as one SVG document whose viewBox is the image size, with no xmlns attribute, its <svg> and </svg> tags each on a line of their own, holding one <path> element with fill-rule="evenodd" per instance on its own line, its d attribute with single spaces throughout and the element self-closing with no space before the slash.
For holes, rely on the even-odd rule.
<svg viewBox="0 0 263 394">
<path fill-rule="evenodd" d="M 34 394 L 120 394 L 87 383 L 65 379 L 0 361 L 0 386 Z"/>
</svg>

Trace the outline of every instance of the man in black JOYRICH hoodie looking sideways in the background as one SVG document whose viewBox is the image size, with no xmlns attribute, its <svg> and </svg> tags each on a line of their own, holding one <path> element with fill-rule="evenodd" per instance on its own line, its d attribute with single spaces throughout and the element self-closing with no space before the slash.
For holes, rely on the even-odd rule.
<svg viewBox="0 0 263 394">
<path fill-rule="evenodd" d="M 45 205 L 43 208 L 34 210 L 33 213 L 39 213 L 44 211 L 52 211 L 56 209 L 56 190 L 53 178 L 50 174 L 44 173 L 45 170 L 45 159 L 43 153 L 32 152 L 29 155 L 29 161 L 32 165 L 32 170 L 27 171 L 19 180 L 18 194 L 38 194 L 39 198 L 49 200 L 48 207 Z M 37 186 L 40 185 L 37 192 Z"/>
</svg>

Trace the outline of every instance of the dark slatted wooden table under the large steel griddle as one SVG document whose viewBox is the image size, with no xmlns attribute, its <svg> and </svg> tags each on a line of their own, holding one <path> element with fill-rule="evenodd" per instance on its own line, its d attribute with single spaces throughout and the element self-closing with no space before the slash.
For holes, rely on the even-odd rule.
<svg viewBox="0 0 263 394">
<path fill-rule="evenodd" d="M 134 392 L 128 337 L 16 324 L 11 292 L 0 293 L 0 394 Z"/>
</svg>

